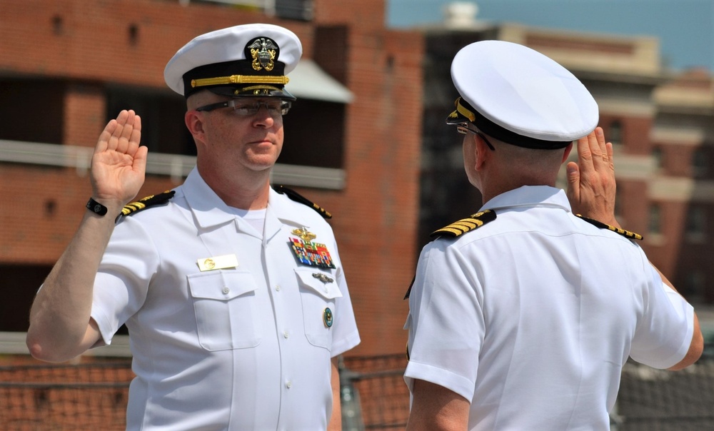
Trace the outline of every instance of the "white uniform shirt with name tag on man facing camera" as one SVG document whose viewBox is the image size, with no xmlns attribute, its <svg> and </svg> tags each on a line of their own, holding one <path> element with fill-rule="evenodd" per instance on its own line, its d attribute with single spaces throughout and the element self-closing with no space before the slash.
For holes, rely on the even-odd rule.
<svg viewBox="0 0 714 431">
<path fill-rule="evenodd" d="M 335 269 L 297 263 L 303 227 Z M 214 269 L 200 270 L 207 258 Z M 331 358 L 360 340 L 321 215 L 271 189 L 261 235 L 196 169 L 166 206 L 116 226 L 91 316 L 106 344 L 129 328 L 129 430 L 323 430 Z"/>
</svg>

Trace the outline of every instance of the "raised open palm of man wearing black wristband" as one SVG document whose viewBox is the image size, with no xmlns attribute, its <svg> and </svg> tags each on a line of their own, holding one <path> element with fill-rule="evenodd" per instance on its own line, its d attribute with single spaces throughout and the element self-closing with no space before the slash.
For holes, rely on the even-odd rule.
<svg viewBox="0 0 714 431">
<path fill-rule="evenodd" d="M 141 118 L 134 111 L 121 111 L 107 123 L 91 159 L 94 198 L 106 206 L 124 206 L 144 184 L 146 153 L 140 146 Z"/>
</svg>

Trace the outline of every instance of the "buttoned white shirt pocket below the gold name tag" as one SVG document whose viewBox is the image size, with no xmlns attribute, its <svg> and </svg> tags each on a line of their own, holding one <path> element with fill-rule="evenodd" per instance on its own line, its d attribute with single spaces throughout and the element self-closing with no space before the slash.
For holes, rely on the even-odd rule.
<svg viewBox="0 0 714 431">
<path fill-rule="evenodd" d="M 252 348 L 261 343 L 253 313 L 258 286 L 250 273 L 188 275 L 198 343 L 206 350 Z"/>
</svg>

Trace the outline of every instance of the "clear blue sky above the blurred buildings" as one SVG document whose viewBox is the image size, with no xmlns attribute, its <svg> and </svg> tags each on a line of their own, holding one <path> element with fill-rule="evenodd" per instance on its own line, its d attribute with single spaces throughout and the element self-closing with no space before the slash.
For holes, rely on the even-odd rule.
<svg viewBox="0 0 714 431">
<path fill-rule="evenodd" d="M 450 0 L 386 0 L 393 29 L 438 24 Z M 461 0 L 463 1 L 463 0 Z M 477 19 L 622 36 L 655 36 L 663 65 L 714 72 L 714 0 L 476 0 Z"/>
</svg>

